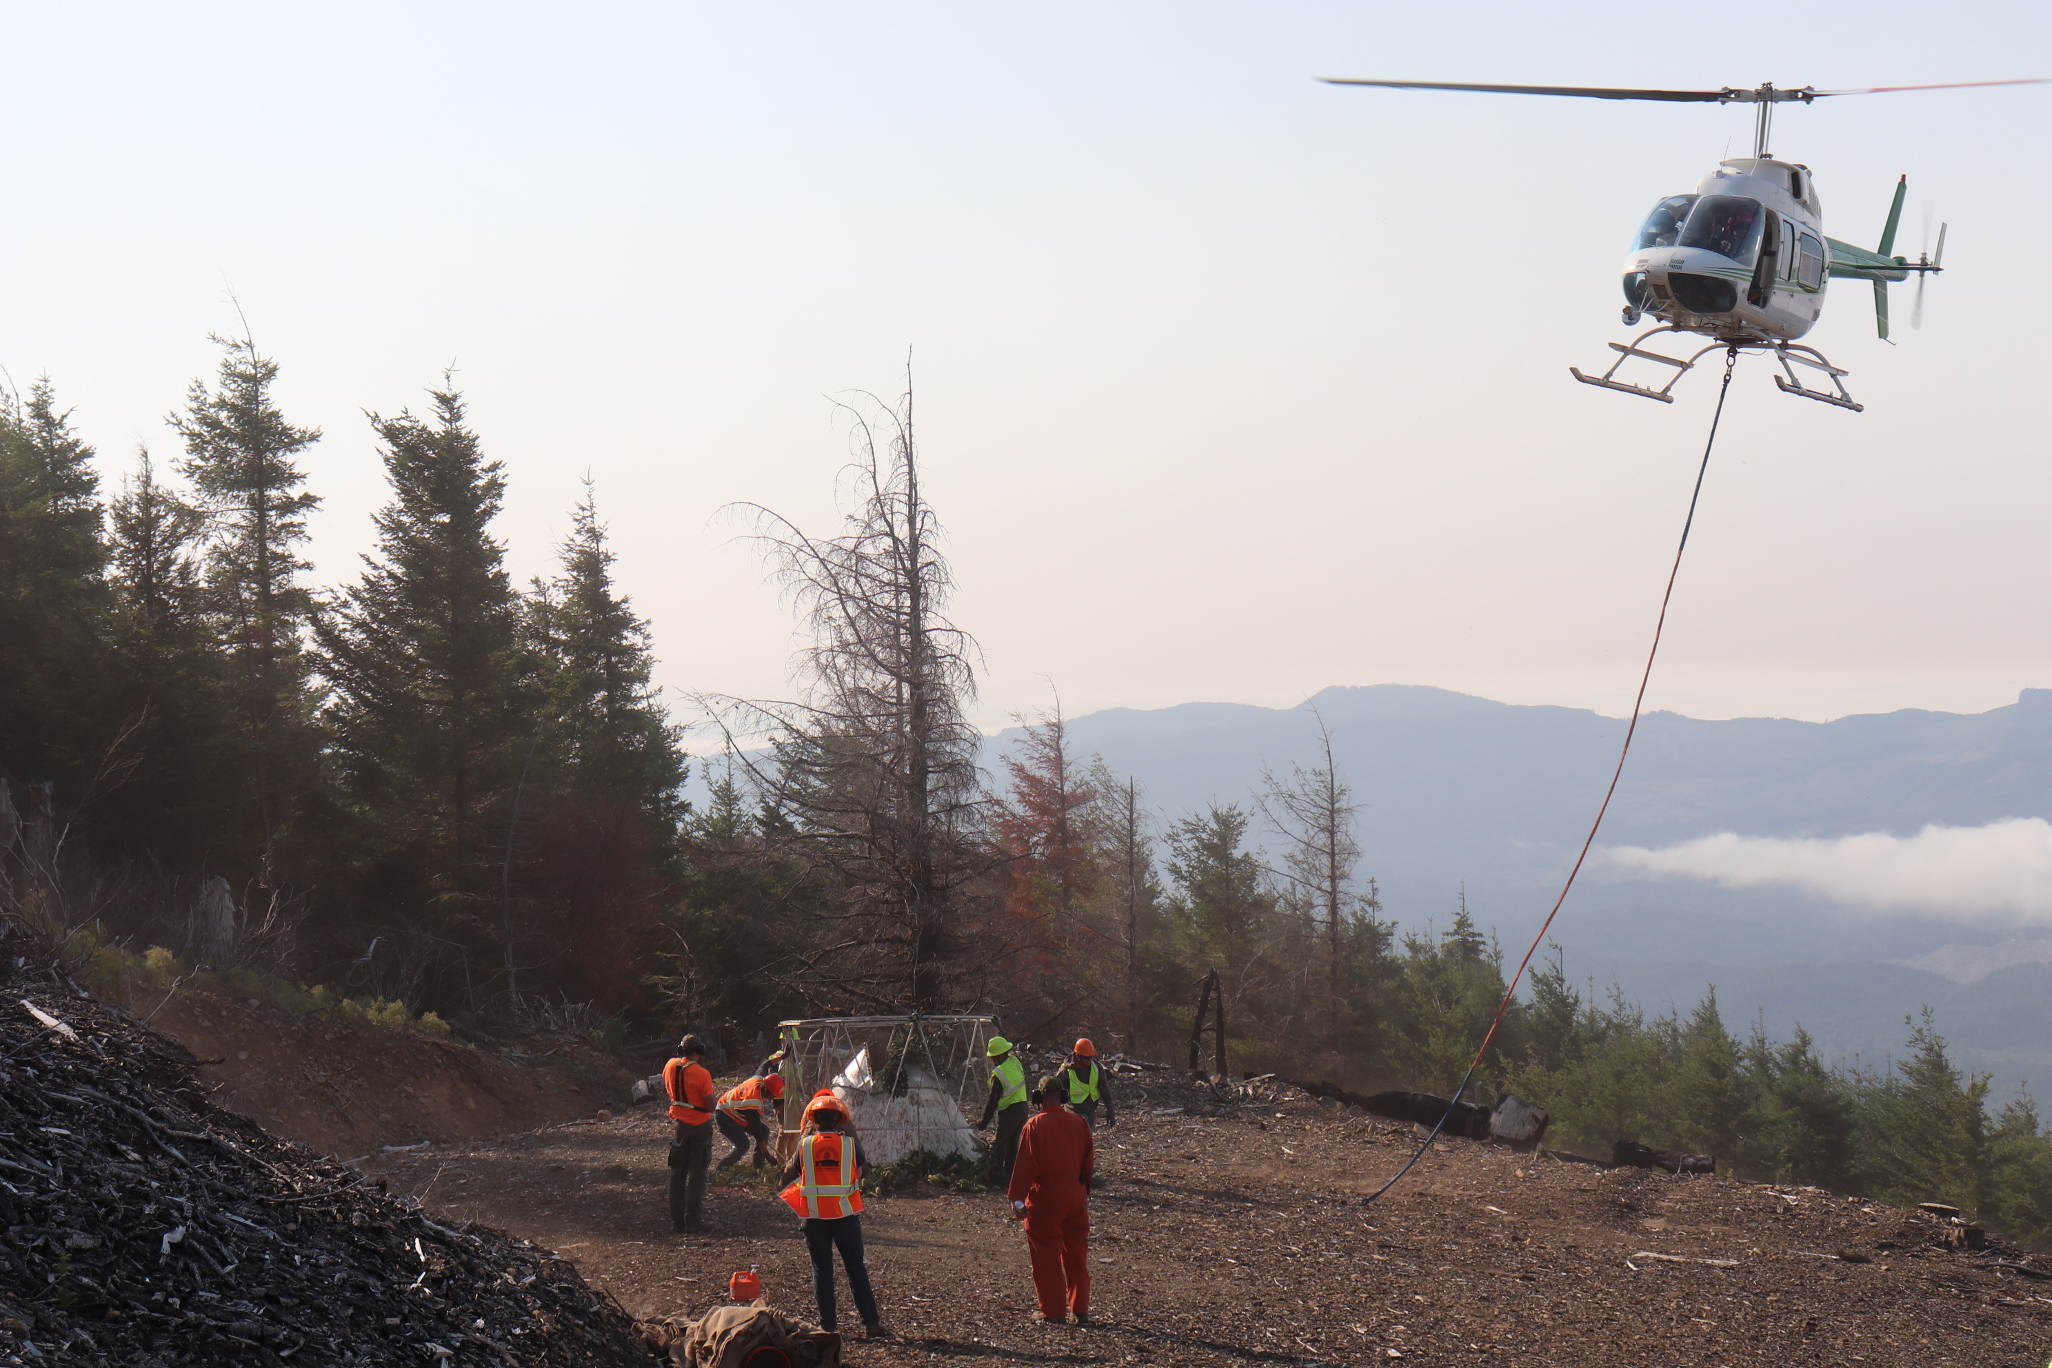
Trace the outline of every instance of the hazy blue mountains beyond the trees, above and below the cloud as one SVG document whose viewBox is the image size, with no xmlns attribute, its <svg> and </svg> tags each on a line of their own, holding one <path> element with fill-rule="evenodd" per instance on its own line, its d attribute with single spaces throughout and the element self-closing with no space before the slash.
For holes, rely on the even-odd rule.
<svg viewBox="0 0 2052 1368">
<path fill-rule="evenodd" d="M 1174 818 L 1213 802 L 1250 806 L 1264 765 L 1309 763 L 1319 718 L 1363 802 L 1360 874 L 1377 880 L 1385 915 L 1445 925 L 1465 888 L 1477 921 L 1523 950 L 1603 798 L 1621 718 L 1369 685 L 1324 689 L 1297 708 L 1110 708 L 1071 718 L 1069 736 Z M 1012 736 L 995 736 L 993 753 Z M 1915 835 L 2011 816 L 2052 818 L 2052 689 L 2023 689 L 1982 714 L 1648 714 L 1601 843 Z M 2005 935 L 2017 931 L 1605 868 L 1584 870 L 1553 931 L 1570 972 L 1599 989 L 1615 980 L 1658 1011 L 1687 1009 L 1713 982 L 1734 1028 L 1761 1013 L 1785 1034 L 1800 1019 L 1832 1056 L 1869 1067 L 1900 1052 L 1902 1015 L 1929 1003 L 1960 1060 L 2013 1087 L 2052 1077 L 2052 966 L 2009 954 L 1988 958 L 1972 987 L 1951 980 Z"/>
</svg>

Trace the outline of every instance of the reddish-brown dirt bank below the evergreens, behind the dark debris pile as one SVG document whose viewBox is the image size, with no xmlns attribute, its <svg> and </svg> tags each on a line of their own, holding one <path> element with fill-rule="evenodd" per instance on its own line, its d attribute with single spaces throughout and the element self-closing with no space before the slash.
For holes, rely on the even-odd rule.
<svg viewBox="0 0 2052 1368">
<path fill-rule="evenodd" d="M 144 1003 L 148 1013 L 156 1003 Z M 628 1071 L 575 1036 L 490 1054 L 406 1030 L 176 993 L 150 1025 L 220 1085 L 213 1101 L 273 1134 L 353 1159 L 384 1144 L 476 1140 L 620 1105 Z"/>
</svg>

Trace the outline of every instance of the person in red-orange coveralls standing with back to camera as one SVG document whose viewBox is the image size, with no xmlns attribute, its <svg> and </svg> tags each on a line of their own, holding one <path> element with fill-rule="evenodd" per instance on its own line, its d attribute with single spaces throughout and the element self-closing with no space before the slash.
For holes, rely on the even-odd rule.
<svg viewBox="0 0 2052 1368">
<path fill-rule="evenodd" d="M 1063 1325 L 1069 1315 L 1090 1325 L 1090 1179 L 1096 1167 L 1090 1122 L 1061 1105 L 1055 1079 L 1040 1079 L 1040 1112 L 1020 1132 L 1010 1196 L 1012 1210 L 1026 1222 L 1042 1325 Z"/>
</svg>

